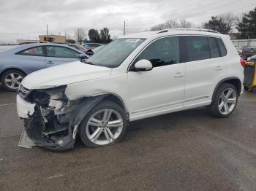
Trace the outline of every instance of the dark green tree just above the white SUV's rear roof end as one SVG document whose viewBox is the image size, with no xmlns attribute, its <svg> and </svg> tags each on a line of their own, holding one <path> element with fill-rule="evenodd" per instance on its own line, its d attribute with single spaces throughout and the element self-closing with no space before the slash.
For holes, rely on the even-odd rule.
<svg viewBox="0 0 256 191">
<path fill-rule="evenodd" d="M 208 23 L 204 23 L 204 28 L 218 31 L 221 34 L 228 34 L 230 31 L 230 26 L 227 25 L 222 19 L 222 17 L 212 16 Z"/>
</svg>

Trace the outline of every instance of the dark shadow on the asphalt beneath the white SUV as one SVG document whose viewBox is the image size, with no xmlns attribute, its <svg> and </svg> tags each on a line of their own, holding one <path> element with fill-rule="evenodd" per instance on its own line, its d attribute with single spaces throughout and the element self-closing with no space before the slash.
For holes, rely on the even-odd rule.
<svg viewBox="0 0 256 191">
<path fill-rule="evenodd" d="M 125 144 L 126 142 L 129 143 L 136 139 L 141 139 L 141 134 L 153 136 L 156 131 L 158 131 L 158 133 L 170 133 L 170 131 L 175 130 L 187 130 L 188 132 L 194 132 L 197 128 L 194 121 L 211 121 L 213 118 L 214 117 L 209 114 L 206 107 L 200 107 L 197 109 L 163 114 L 157 117 L 149 117 L 143 120 L 130 122 L 127 133 L 121 143 Z M 89 148 L 83 144 L 83 141 L 80 140 L 78 135 L 75 141 L 74 150 L 79 149 Z"/>
</svg>

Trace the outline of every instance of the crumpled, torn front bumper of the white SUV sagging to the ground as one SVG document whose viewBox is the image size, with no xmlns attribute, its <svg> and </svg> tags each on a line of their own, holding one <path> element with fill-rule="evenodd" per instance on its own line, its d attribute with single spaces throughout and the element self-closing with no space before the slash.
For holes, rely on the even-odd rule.
<svg viewBox="0 0 256 191">
<path fill-rule="evenodd" d="M 72 135 L 66 133 L 56 136 L 61 130 L 69 130 L 68 125 L 63 125 L 59 129 L 54 129 L 55 125 L 50 128 L 45 127 L 45 119 L 42 112 L 36 104 L 31 104 L 17 95 L 18 116 L 24 120 L 23 133 L 20 136 L 18 146 L 31 148 L 34 146 L 46 147 L 48 149 L 70 149 L 73 147 L 75 139 Z M 53 134 L 51 134 L 53 133 Z"/>
</svg>

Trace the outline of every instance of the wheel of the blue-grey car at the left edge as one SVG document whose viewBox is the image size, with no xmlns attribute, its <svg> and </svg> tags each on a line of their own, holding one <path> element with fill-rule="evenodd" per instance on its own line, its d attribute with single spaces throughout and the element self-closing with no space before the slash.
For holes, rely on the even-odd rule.
<svg viewBox="0 0 256 191">
<path fill-rule="evenodd" d="M 9 91 L 17 91 L 25 77 L 25 74 L 18 70 L 8 70 L 1 77 L 1 85 Z"/>
</svg>

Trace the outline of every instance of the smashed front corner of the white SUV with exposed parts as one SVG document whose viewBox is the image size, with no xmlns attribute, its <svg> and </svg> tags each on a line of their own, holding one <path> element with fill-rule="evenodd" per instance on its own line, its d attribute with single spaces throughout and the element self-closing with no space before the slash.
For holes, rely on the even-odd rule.
<svg viewBox="0 0 256 191">
<path fill-rule="evenodd" d="M 70 101 L 64 93 L 65 88 L 32 90 L 23 98 L 19 93 L 17 109 L 24 120 L 20 147 L 64 150 L 74 146 L 80 122 L 106 95 Z"/>
</svg>

